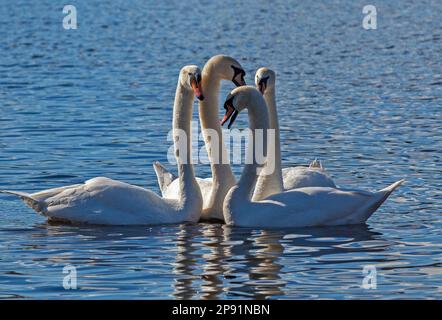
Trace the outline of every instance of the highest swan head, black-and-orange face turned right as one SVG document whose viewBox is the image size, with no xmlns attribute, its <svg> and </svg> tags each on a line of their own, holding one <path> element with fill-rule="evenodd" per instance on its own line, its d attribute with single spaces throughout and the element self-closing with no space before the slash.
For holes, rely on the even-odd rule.
<svg viewBox="0 0 442 320">
<path fill-rule="evenodd" d="M 232 57 L 217 55 L 210 58 L 206 65 L 211 66 L 210 72 L 216 74 L 220 79 L 232 81 L 237 87 L 246 85 L 244 80 L 246 72 L 241 64 Z"/>
</svg>

